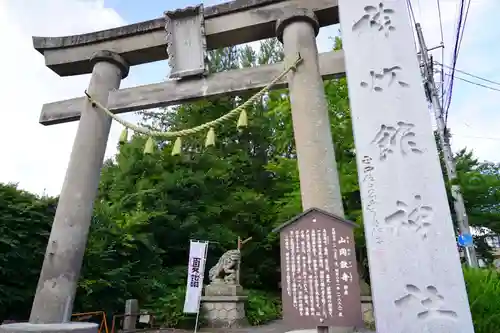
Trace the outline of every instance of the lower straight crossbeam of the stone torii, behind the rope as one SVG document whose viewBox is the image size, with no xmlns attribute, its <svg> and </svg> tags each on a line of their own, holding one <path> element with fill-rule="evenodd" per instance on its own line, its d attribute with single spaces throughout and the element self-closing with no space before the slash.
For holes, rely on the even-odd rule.
<svg viewBox="0 0 500 333">
<path fill-rule="evenodd" d="M 319 69 L 324 80 L 345 75 L 344 52 L 319 55 Z M 167 80 L 133 88 L 111 91 L 108 108 L 115 114 L 195 101 L 200 98 L 233 95 L 262 89 L 283 70 L 283 63 L 214 73 L 201 80 Z M 283 88 L 278 82 L 273 88 Z M 80 119 L 86 97 L 44 104 L 40 115 L 43 125 L 55 125 Z"/>
</svg>

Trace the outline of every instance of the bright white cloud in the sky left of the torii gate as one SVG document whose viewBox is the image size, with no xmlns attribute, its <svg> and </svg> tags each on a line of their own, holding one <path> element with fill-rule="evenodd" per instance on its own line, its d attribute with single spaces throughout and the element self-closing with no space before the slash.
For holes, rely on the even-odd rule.
<svg viewBox="0 0 500 333">
<path fill-rule="evenodd" d="M 61 78 L 45 67 L 31 36 L 64 36 L 112 28 L 126 22 L 103 1 L 0 1 L 0 182 L 23 189 L 60 192 L 78 123 L 42 126 L 43 103 L 82 96 L 89 75 Z M 122 86 L 130 85 L 125 82 Z M 113 126 L 107 155 L 115 151 L 120 129 Z"/>
</svg>

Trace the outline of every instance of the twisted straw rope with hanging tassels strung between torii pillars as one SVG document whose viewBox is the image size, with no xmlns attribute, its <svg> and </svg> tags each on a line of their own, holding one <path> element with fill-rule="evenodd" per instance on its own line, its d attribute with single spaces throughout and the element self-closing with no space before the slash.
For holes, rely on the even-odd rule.
<svg viewBox="0 0 500 333">
<path fill-rule="evenodd" d="M 267 86 L 262 88 L 258 93 L 250 97 L 245 103 L 241 104 L 237 108 L 229 111 L 225 115 L 209 121 L 207 123 L 201 124 L 199 126 L 193 127 L 193 128 L 188 128 L 185 130 L 180 130 L 180 131 L 175 131 L 175 132 L 161 132 L 161 131 L 153 131 L 145 127 L 140 127 L 137 125 L 134 125 L 126 120 L 123 120 L 116 116 L 114 113 L 109 111 L 106 107 L 104 107 L 102 104 L 97 102 L 95 99 L 90 96 L 87 91 L 85 91 L 85 95 L 87 96 L 88 100 L 92 104 L 92 107 L 101 109 L 104 111 L 108 116 L 113 118 L 115 121 L 120 123 L 122 126 L 125 128 L 123 129 L 121 135 L 120 135 L 120 144 L 124 144 L 128 140 L 128 129 L 132 130 L 133 132 L 137 133 L 142 133 L 148 136 L 148 139 L 146 141 L 146 144 L 144 146 L 144 154 L 152 154 L 155 149 L 155 141 L 153 138 L 176 138 L 174 142 L 174 146 L 172 148 L 172 156 L 178 156 L 181 154 L 182 151 L 182 137 L 188 136 L 191 134 L 196 134 L 199 132 L 202 132 L 204 130 L 208 129 L 207 136 L 205 139 L 205 147 L 212 147 L 215 145 L 215 127 L 222 124 L 224 121 L 229 120 L 231 118 L 238 117 L 238 122 L 236 124 L 236 127 L 238 130 L 243 130 L 248 127 L 248 116 L 246 112 L 246 108 L 256 102 L 257 100 L 261 99 L 262 96 L 264 96 L 265 93 L 267 93 L 274 85 L 276 85 L 279 81 L 281 81 L 290 71 L 295 71 L 297 70 L 297 66 L 303 61 L 303 59 L 300 57 L 300 54 L 298 55 L 297 59 L 289 65 L 283 72 L 281 72 L 280 75 L 278 75 L 274 80 L 272 80 Z"/>
</svg>

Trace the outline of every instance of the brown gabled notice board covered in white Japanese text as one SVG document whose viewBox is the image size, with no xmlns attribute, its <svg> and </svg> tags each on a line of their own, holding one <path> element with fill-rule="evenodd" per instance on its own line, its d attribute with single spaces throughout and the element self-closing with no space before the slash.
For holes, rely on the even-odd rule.
<svg viewBox="0 0 500 333">
<path fill-rule="evenodd" d="M 363 327 L 355 226 L 310 208 L 274 230 L 280 233 L 283 320 L 290 329 Z"/>
</svg>

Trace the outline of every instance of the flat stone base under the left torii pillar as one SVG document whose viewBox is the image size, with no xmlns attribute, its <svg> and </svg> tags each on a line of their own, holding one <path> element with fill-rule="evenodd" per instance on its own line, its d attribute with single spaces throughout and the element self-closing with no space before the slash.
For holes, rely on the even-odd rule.
<svg viewBox="0 0 500 333">
<path fill-rule="evenodd" d="M 97 328 L 94 323 L 15 323 L 0 325 L 0 333 L 97 333 Z"/>
</svg>

